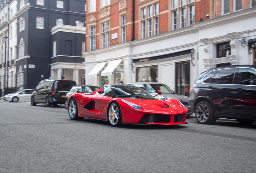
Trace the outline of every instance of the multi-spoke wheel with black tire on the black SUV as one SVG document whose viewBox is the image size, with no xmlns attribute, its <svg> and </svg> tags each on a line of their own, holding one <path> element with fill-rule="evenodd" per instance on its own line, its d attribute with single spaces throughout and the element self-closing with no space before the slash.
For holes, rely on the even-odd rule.
<svg viewBox="0 0 256 173">
<path fill-rule="evenodd" d="M 200 124 L 214 124 L 216 118 L 213 115 L 213 108 L 208 101 L 201 101 L 196 105 L 196 121 Z"/>
</svg>

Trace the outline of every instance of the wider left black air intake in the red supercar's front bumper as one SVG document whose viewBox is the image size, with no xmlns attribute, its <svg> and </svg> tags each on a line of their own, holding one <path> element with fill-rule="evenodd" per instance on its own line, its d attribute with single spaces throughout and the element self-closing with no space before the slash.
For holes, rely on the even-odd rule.
<svg viewBox="0 0 256 173">
<path fill-rule="evenodd" d="M 169 123 L 169 115 L 147 114 L 140 119 L 140 123 Z"/>
</svg>

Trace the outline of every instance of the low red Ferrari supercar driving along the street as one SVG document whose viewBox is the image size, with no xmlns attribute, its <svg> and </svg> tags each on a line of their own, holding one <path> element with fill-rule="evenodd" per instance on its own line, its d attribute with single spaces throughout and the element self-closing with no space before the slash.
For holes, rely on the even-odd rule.
<svg viewBox="0 0 256 173">
<path fill-rule="evenodd" d="M 157 92 L 158 95 L 161 91 Z M 91 94 L 72 93 L 68 113 L 72 120 L 99 119 L 111 126 L 122 124 L 180 125 L 186 123 L 188 109 L 175 99 L 155 99 L 147 91 L 129 85 L 113 85 Z M 164 100 L 165 99 L 165 100 Z"/>
</svg>

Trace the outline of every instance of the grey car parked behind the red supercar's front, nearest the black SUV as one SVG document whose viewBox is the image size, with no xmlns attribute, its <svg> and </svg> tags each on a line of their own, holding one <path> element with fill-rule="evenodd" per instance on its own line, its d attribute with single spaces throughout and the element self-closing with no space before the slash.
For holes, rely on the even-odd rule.
<svg viewBox="0 0 256 173">
<path fill-rule="evenodd" d="M 157 91 L 162 91 L 161 95 L 156 96 L 156 99 L 176 99 L 180 101 L 187 109 L 188 109 L 188 99 L 189 97 L 184 95 L 177 95 L 172 91 L 166 84 L 158 83 L 158 82 L 133 82 L 133 83 L 127 83 L 125 85 L 132 85 L 135 87 L 140 87 L 142 89 L 145 89 L 147 92 L 149 92 L 152 96 L 157 95 Z M 190 111 L 188 110 L 187 117 L 192 115 Z"/>
</svg>

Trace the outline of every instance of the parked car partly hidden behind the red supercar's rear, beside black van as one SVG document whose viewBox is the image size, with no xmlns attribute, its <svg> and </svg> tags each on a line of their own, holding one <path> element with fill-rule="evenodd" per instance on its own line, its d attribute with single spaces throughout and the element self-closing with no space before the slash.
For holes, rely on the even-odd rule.
<svg viewBox="0 0 256 173">
<path fill-rule="evenodd" d="M 70 94 L 72 94 L 72 93 L 90 94 L 93 91 L 96 91 L 97 89 L 100 89 L 100 87 L 91 86 L 91 85 L 78 85 L 78 86 L 72 87 L 70 89 L 70 91 L 66 94 L 66 97 L 65 97 L 65 108 L 68 109 L 68 99 L 69 99 Z"/>
</svg>

